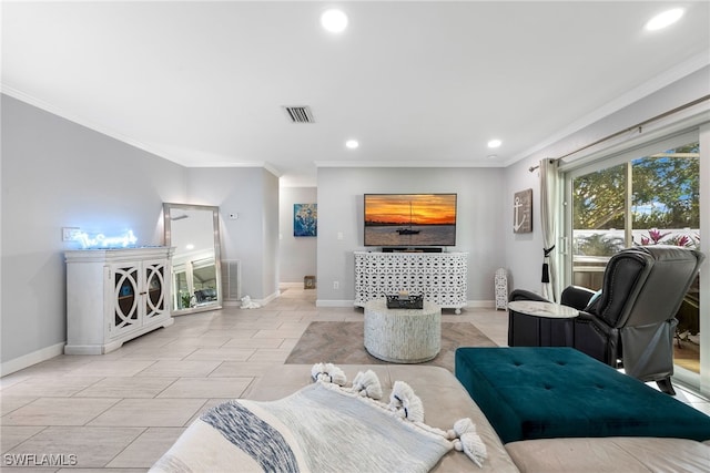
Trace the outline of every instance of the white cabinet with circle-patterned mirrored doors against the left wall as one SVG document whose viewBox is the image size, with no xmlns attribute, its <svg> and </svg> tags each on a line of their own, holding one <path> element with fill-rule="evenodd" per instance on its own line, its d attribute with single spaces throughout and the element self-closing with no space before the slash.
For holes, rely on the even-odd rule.
<svg viewBox="0 0 710 473">
<path fill-rule="evenodd" d="M 67 354 L 103 354 L 170 327 L 174 248 L 78 249 L 67 260 Z"/>
</svg>

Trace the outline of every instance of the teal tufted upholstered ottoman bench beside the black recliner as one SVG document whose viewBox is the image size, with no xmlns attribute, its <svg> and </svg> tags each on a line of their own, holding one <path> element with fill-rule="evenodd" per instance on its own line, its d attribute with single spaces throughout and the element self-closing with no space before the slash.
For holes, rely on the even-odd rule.
<svg viewBox="0 0 710 473">
<path fill-rule="evenodd" d="M 504 443 L 710 439 L 710 417 L 574 348 L 459 348 L 455 374 Z"/>
</svg>

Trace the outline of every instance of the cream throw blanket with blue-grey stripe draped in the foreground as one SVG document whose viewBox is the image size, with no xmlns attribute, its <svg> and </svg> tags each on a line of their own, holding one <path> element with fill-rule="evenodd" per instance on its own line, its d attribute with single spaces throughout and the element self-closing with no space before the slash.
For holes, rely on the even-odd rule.
<svg viewBox="0 0 710 473">
<path fill-rule="evenodd" d="M 427 472 L 455 446 L 452 436 L 317 381 L 281 400 L 209 410 L 151 472 Z"/>
</svg>

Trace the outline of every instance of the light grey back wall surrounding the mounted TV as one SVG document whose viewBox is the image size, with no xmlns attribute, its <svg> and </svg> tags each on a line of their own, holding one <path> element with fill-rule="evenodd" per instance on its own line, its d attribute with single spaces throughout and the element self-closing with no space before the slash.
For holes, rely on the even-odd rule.
<svg viewBox="0 0 710 473">
<path fill-rule="evenodd" d="M 363 194 L 456 193 L 456 247 L 468 251 L 471 301 L 494 300 L 494 276 L 505 264 L 504 169 L 501 168 L 318 168 L 317 302 L 352 306 L 355 250 L 363 246 Z M 513 232 L 510 229 L 510 232 Z M 342 239 L 338 239 L 342 234 Z M 333 288 L 337 281 L 339 289 Z"/>
</svg>

